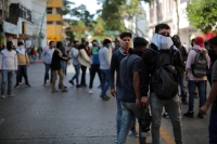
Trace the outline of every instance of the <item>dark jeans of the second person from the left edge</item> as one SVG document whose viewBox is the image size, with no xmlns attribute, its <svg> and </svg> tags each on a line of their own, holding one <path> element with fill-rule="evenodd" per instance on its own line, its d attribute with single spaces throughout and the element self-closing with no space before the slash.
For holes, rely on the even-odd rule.
<svg viewBox="0 0 217 144">
<path fill-rule="evenodd" d="M 28 83 L 28 76 L 27 76 L 27 66 L 26 65 L 18 65 L 17 74 L 16 74 L 16 84 L 21 82 L 22 76 L 25 79 L 25 83 Z"/>
</svg>

